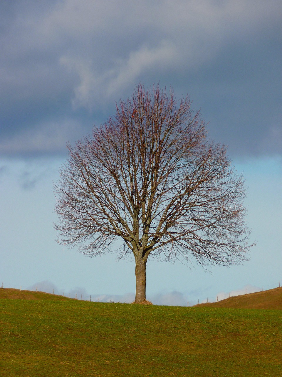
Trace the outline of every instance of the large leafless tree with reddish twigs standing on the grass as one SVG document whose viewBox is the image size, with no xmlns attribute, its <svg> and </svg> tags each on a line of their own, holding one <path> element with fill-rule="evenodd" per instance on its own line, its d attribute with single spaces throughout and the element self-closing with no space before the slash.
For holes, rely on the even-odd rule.
<svg viewBox="0 0 282 377">
<path fill-rule="evenodd" d="M 68 145 L 55 185 L 59 242 L 85 254 L 135 258 L 135 302 L 146 300 L 149 255 L 201 265 L 245 260 L 244 180 L 208 139 L 188 97 L 139 84 L 92 135 Z"/>
</svg>

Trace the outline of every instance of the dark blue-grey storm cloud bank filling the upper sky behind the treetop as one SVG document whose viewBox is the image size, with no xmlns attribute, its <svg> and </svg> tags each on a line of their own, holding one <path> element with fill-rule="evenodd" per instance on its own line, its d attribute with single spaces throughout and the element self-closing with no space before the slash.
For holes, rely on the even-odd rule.
<svg viewBox="0 0 282 377">
<path fill-rule="evenodd" d="M 190 93 L 234 156 L 282 152 L 279 0 L 0 5 L 0 153 L 64 153 L 135 83 Z"/>
</svg>

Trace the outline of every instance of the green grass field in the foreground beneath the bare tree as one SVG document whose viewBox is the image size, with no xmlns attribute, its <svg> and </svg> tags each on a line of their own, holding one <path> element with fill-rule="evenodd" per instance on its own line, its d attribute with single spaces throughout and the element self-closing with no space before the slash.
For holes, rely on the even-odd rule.
<svg viewBox="0 0 282 377">
<path fill-rule="evenodd" d="M 282 376 L 280 310 L 44 297 L 0 299 L 0 376 Z"/>
</svg>

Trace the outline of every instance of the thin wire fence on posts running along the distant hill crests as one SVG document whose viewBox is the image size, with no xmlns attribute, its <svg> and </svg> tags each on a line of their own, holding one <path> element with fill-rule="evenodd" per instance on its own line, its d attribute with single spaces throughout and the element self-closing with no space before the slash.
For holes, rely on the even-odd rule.
<svg viewBox="0 0 282 377">
<path fill-rule="evenodd" d="M 220 292 L 216 296 L 213 296 L 213 297 L 205 297 L 205 298 L 202 297 L 202 298 L 198 298 L 198 299 L 194 299 L 194 298 L 189 299 L 189 297 L 186 297 L 187 298 L 186 305 L 188 307 L 192 307 L 194 305 L 201 304 L 201 303 L 217 302 L 217 301 L 227 299 L 228 297 L 240 296 L 240 295 L 249 294 L 249 293 L 256 293 L 256 292 L 266 291 L 266 290 L 270 290 L 270 289 L 278 288 L 278 287 L 280 287 L 280 281 L 277 282 L 277 284 L 273 283 L 271 285 L 264 285 L 262 287 L 254 287 L 252 285 L 247 285 L 246 287 L 239 289 L 239 290 L 233 290 L 233 291 L 230 291 L 230 292 Z M 6 287 L 4 287 L 3 282 L 2 282 L 1 288 L 6 288 Z M 129 303 L 129 302 L 133 302 L 134 299 L 135 299 L 134 294 L 127 294 L 127 295 L 123 295 L 123 296 L 121 296 L 121 295 L 106 295 L 106 294 L 89 295 L 85 292 L 85 290 L 82 291 L 81 288 L 73 289 L 70 292 L 58 290 L 55 286 L 53 288 L 52 287 L 50 288 L 50 287 L 40 287 L 40 285 L 38 287 L 36 287 L 36 286 L 32 286 L 32 287 L 30 287 L 30 286 L 29 287 L 20 286 L 20 287 L 16 287 L 15 289 L 18 289 L 20 291 L 28 290 L 28 291 L 35 291 L 35 292 L 44 292 L 44 293 L 49 293 L 49 294 L 67 297 L 67 298 L 70 298 L 70 299 L 90 301 L 90 302 Z M 163 305 L 167 305 L 167 304 L 163 304 Z M 168 305 L 170 305 L 170 304 L 168 303 Z M 184 306 L 185 303 L 184 302 L 176 303 L 176 304 L 174 303 L 173 305 Z"/>
</svg>

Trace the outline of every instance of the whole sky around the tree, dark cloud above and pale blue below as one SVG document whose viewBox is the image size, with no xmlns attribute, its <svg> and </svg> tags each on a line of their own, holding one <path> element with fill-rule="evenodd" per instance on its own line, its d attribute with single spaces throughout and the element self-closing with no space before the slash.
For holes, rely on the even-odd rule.
<svg viewBox="0 0 282 377">
<path fill-rule="evenodd" d="M 0 284 L 134 300 L 133 259 L 56 242 L 53 182 L 74 144 L 138 83 L 190 95 L 243 172 L 249 260 L 148 261 L 147 298 L 194 305 L 282 284 L 280 0 L 0 2 Z M 280 283 L 279 283 L 280 282 Z"/>
</svg>

